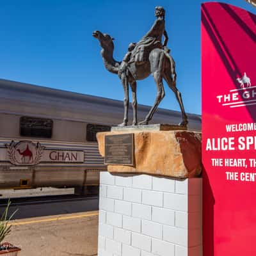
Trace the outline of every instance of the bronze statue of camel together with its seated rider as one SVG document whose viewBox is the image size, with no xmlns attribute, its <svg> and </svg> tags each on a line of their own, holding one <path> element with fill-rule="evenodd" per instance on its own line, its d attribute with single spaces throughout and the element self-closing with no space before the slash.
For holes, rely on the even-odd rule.
<svg viewBox="0 0 256 256">
<path fill-rule="evenodd" d="M 163 78 L 175 93 L 182 112 L 182 122 L 180 125 L 188 124 L 188 117 L 184 111 L 182 98 L 179 90 L 176 87 L 176 72 L 175 62 L 170 56 L 167 42 L 168 33 L 165 29 L 165 10 L 162 6 L 155 8 L 156 20 L 150 30 L 138 43 L 129 44 L 128 52 L 125 54 L 122 62 L 116 61 L 113 58 L 114 44 L 113 38 L 100 31 L 94 31 L 93 36 L 97 38 L 102 47 L 101 55 L 105 67 L 109 72 L 118 74 L 124 87 L 124 122 L 120 126 L 126 126 L 128 122 L 128 106 L 129 106 L 129 84 L 132 90 L 132 109 L 133 122 L 132 125 L 137 125 L 137 96 L 136 96 L 136 81 L 145 79 L 150 74 L 154 77 L 157 86 L 157 96 L 154 105 L 150 109 L 145 120 L 140 122 L 140 125 L 147 125 L 152 119 L 157 106 L 164 97 Z M 162 44 L 162 36 L 164 42 Z"/>
</svg>

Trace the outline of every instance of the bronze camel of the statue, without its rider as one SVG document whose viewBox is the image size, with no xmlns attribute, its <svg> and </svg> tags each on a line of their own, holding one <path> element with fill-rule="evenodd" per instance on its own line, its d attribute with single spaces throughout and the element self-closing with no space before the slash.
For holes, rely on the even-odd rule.
<svg viewBox="0 0 256 256">
<path fill-rule="evenodd" d="M 124 61 L 116 61 L 113 58 L 114 44 L 113 38 L 108 34 L 103 34 L 100 31 L 94 31 L 93 36 L 97 38 L 102 47 L 101 56 L 104 66 L 109 72 L 118 74 L 124 86 L 124 122 L 120 126 L 126 126 L 128 122 L 128 107 L 129 107 L 129 86 L 132 90 L 132 109 L 133 109 L 133 122 L 132 125 L 138 125 L 137 120 L 137 99 L 136 99 L 136 81 L 148 77 L 150 74 L 154 77 L 157 86 L 157 96 L 154 105 L 150 109 L 145 120 L 140 122 L 140 125 L 147 125 L 152 119 L 157 106 L 164 98 L 163 79 L 166 81 L 170 89 L 175 93 L 179 102 L 180 110 L 182 112 L 182 122 L 179 125 L 186 126 L 188 124 L 188 117 L 184 111 L 181 93 L 176 87 L 176 73 L 175 62 L 173 58 L 164 51 L 164 49 L 153 49 L 150 51 L 148 60 L 143 62 L 132 61 L 127 63 L 129 72 L 121 72 L 124 67 Z"/>
</svg>

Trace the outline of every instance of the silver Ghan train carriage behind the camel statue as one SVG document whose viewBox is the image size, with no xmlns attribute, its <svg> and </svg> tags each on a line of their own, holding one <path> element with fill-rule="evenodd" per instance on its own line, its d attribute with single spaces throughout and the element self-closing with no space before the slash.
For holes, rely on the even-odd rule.
<svg viewBox="0 0 256 256">
<path fill-rule="evenodd" d="M 139 120 L 149 109 L 138 106 Z M 119 124 L 123 113 L 120 100 L 0 79 L 0 189 L 98 186 L 106 166 L 96 133 Z M 200 131 L 200 116 L 188 117 L 189 129 Z M 152 124 L 169 120 L 178 124 L 180 113 L 157 109 Z"/>
</svg>

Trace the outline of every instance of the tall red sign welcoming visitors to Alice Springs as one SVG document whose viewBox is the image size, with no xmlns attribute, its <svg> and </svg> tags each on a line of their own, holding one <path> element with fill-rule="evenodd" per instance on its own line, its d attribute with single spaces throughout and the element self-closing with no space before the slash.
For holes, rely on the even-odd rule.
<svg viewBox="0 0 256 256">
<path fill-rule="evenodd" d="M 202 4 L 204 255 L 256 255 L 256 16 Z"/>
</svg>

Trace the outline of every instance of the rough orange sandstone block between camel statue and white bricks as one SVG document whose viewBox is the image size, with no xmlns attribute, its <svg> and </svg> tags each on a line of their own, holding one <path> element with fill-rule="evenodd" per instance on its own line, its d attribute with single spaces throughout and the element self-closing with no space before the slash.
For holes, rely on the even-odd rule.
<svg viewBox="0 0 256 256">
<path fill-rule="evenodd" d="M 99 152 L 105 156 L 105 136 L 131 131 L 99 132 Z M 202 171 L 201 133 L 191 131 L 132 131 L 134 166 L 109 164 L 111 173 L 146 173 L 179 179 L 198 177 Z"/>
</svg>

